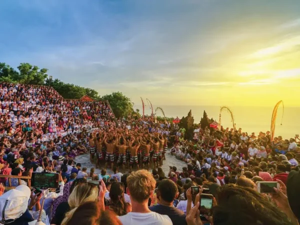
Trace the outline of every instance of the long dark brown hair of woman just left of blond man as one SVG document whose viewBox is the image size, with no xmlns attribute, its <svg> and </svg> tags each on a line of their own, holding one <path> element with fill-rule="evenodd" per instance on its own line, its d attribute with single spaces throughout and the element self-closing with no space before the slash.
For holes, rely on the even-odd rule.
<svg viewBox="0 0 300 225">
<path fill-rule="evenodd" d="M 109 190 L 110 204 L 106 208 L 113 211 L 116 215 L 125 215 L 131 211 L 131 204 L 125 202 L 124 185 L 121 182 L 111 183 Z"/>
</svg>

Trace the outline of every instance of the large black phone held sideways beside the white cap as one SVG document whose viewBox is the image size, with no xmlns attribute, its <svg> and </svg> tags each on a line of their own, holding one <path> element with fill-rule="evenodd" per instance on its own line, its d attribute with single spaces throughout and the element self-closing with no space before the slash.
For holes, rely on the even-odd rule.
<svg viewBox="0 0 300 225">
<path fill-rule="evenodd" d="M 58 188 L 59 173 L 32 172 L 31 185 L 40 188 Z"/>
</svg>

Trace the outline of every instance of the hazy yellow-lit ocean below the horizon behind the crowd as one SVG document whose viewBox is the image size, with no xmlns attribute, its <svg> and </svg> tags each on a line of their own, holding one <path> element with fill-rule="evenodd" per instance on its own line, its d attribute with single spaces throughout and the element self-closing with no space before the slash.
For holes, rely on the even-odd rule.
<svg viewBox="0 0 300 225">
<path fill-rule="evenodd" d="M 153 105 L 154 113 L 157 105 Z M 180 119 L 182 116 L 186 116 L 188 111 L 191 109 L 191 114 L 194 118 L 194 123 L 199 123 L 205 110 L 208 118 L 213 118 L 217 122 L 219 121 L 219 106 L 197 106 L 197 105 L 159 105 L 164 111 L 167 117 L 176 117 Z M 142 106 L 134 105 L 134 108 L 138 108 L 142 114 Z M 273 107 L 258 107 L 258 106 L 232 106 L 229 107 L 233 113 L 234 123 L 236 128 L 241 128 L 244 132 L 255 132 L 259 131 L 266 132 L 270 130 L 271 116 Z M 145 114 L 151 114 L 151 109 L 148 105 L 145 106 Z M 162 116 L 162 113 L 157 110 L 156 115 Z M 294 137 L 295 134 L 300 134 L 300 107 L 284 107 L 282 125 L 282 105 L 278 107 L 275 136 L 281 135 L 284 139 Z M 226 128 L 232 127 L 231 117 L 227 111 L 221 113 L 221 125 Z"/>
</svg>

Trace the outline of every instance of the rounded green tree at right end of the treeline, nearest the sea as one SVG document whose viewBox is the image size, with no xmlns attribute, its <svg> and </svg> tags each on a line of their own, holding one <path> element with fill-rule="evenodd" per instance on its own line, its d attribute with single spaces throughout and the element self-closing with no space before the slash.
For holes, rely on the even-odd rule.
<svg viewBox="0 0 300 225">
<path fill-rule="evenodd" d="M 127 116 L 133 111 L 133 103 L 130 98 L 122 94 L 122 92 L 112 92 L 102 96 L 103 100 L 108 100 L 115 117 Z"/>
</svg>

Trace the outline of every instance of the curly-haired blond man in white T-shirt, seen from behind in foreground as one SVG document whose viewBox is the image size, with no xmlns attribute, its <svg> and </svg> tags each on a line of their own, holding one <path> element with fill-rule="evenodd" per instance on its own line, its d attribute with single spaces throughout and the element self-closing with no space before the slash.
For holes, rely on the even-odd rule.
<svg viewBox="0 0 300 225">
<path fill-rule="evenodd" d="M 119 216 L 123 225 L 171 225 L 167 215 L 152 212 L 148 208 L 148 199 L 153 196 L 156 181 L 146 170 L 137 170 L 127 177 L 126 192 L 131 200 L 131 212 Z"/>
</svg>

